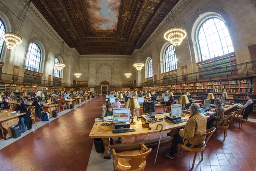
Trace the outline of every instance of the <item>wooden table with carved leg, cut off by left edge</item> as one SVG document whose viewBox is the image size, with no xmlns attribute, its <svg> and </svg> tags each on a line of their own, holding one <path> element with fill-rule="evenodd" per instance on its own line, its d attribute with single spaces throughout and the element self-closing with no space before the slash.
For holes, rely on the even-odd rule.
<svg viewBox="0 0 256 171">
<path fill-rule="evenodd" d="M 16 113 L 12 114 L 10 112 L 13 112 L 14 110 L 1 110 L 0 114 L 0 125 L 7 130 L 6 135 L 4 136 L 4 139 L 10 139 L 12 138 L 12 131 L 10 130 L 10 126 L 17 125 L 19 123 L 18 116 L 25 115 L 26 113 L 19 113 L 19 115 L 16 115 Z M 19 130 L 20 131 L 20 130 Z"/>
</svg>

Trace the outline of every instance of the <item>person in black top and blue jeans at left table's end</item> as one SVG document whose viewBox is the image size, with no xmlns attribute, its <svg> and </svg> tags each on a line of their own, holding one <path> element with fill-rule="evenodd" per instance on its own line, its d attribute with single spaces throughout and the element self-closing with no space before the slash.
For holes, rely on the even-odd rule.
<svg viewBox="0 0 256 171">
<path fill-rule="evenodd" d="M 25 104 L 22 103 L 21 99 L 17 100 L 17 107 L 15 111 L 18 113 L 26 113 L 25 115 L 19 116 L 19 125 L 22 127 L 22 131 L 20 127 L 20 133 L 24 133 L 26 131 L 25 122 L 27 129 L 30 130 L 32 128 L 32 119 L 30 117 L 29 111 L 27 110 Z"/>
</svg>

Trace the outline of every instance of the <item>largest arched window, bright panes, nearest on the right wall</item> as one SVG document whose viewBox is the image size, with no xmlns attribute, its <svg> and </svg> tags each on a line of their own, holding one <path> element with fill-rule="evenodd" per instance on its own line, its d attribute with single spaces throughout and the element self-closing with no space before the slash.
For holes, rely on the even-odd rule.
<svg viewBox="0 0 256 171">
<path fill-rule="evenodd" d="M 200 26 L 198 42 L 202 61 L 234 52 L 227 26 L 217 17 L 209 18 Z"/>
</svg>

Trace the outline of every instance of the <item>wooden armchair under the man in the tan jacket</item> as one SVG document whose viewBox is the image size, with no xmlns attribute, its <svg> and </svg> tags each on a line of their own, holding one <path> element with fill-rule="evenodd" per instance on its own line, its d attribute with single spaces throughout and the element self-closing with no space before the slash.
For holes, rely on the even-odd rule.
<svg viewBox="0 0 256 171">
<path fill-rule="evenodd" d="M 201 136 L 196 137 L 194 143 L 190 147 L 186 146 L 186 144 L 189 143 L 189 141 L 186 138 L 183 138 L 183 143 L 184 144 L 178 144 L 178 151 L 180 151 L 180 148 L 184 148 L 187 151 L 195 152 L 192 168 L 194 168 L 195 159 L 196 159 L 196 156 L 197 156 L 198 152 L 201 152 L 202 160 L 204 159 L 203 158 L 204 148 L 205 148 L 207 142 L 209 141 L 209 139 L 211 138 L 211 136 L 212 136 L 212 134 L 214 133 L 215 130 L 216 130 L 216 128 L 214 128 L 214 127 L 210 128 L 206 131 L 206 133 L 202 134 Z M 203 145 L 201 147 L 193 148 L 195 146 L 195 143 L 198 141 L 198 139 L 201 139 L 204 136 L 205 136 L 205 140 L 203 142 Z M 178 153 L 177 158 L 179 158 L 179 156 L 180 156 L 180 153 Z"/>
</svg>

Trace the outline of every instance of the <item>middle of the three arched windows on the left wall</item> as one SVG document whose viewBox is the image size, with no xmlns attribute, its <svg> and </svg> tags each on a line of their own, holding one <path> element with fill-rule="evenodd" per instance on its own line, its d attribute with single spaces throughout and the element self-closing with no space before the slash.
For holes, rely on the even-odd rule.
<svg viewBox="0 0 256 171">
<path fill-rule="evenodd" d="M 41 62 L 41 50 L 36 43 L 30 43 L 26 55 L 25 69 L 39 72 Z"/>
</svg>

